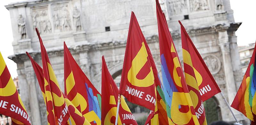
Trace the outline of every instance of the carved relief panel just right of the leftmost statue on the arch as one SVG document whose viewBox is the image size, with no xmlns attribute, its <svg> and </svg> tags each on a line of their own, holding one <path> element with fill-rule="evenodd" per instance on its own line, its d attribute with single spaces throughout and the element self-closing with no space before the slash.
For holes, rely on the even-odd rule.
<svg viewBox="0 0 256 125">
<path fill-rule="evenodd" d="M 52 33 L 52 25 L 49 20 L 47 7 L 32 10 L 32 19 L 34 29 L 37 27 L 41 34 Z"/>
</svg>

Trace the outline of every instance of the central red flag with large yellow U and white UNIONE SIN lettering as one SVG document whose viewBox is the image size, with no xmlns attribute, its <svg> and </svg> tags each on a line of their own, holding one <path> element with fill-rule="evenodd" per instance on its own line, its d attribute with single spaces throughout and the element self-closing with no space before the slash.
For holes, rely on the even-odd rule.
<svg viewBox="0 0 256 125">
<path fill-rule="evenodd" d="M 154 111 L 155 79 L 145 43 L 146 40 L 132 12 L 119 93 L 128 101 Z"/>
</svg>

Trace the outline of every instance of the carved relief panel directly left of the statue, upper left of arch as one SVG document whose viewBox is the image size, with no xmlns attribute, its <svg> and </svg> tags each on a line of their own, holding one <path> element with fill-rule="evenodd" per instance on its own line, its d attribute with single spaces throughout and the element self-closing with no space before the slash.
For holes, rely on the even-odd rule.
<svg viewBox="0 0 256 125">
<path fill-rule="evenodd" d="M 52 11 L 55 30 L 68 31 L 72 29 L 67 4 L 52 5 Z"/>
</svg>

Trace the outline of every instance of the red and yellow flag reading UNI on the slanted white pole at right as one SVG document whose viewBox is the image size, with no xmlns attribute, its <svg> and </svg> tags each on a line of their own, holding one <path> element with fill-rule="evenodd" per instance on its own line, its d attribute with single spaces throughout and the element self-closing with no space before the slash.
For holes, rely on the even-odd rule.
<svg viewBox="0 0 256 125">
<path fill-rule="evenodd" d="M 207 71 L 209 70 L 207 67 L 204 67 L 205 63 L 203 60 L 200 60 L 200 58 L 202 59 L 202 57 L 196 50 L 185 28 L 183 27 L 180 21 L 179 23 L 181 26 L 181 43 L 185 80 L 188 85 L 189 94 L 195 108 L 196 117 L 198 118 L 200 125 L 206 125 L 207 122 L 205 118 L 204 104 L 202 100 L 203 97 L 201 98 L 201 96 L 203 96 L 202 92 L 204 91 L 200 90 L 203 90 L 203 88 L 205 90 L 209 90 L 206 91 L 206 93 L 204 93 L 204 98 L 208 99 L 209 97 L 212 97 L 215 94 L 219 93 L 220 89 L 215 80 L 211 79 L 213 78 L 212 74 L 208 74 Z M 202 77 L 202 75 L 204 77 Z"/>
</svg>

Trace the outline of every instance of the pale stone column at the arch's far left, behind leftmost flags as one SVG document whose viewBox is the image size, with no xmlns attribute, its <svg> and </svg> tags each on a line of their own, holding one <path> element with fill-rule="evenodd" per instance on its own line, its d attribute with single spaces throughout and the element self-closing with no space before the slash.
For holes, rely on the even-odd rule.
<svg viewBox="0 0 256 125">
<path fill-rule="evenodd" d="M 36 85 L 35 85 L 37 83 L 35 79 L 35 73 L 30 61 L 26 61 L 24 62 L 24 64 L 25 64 L 25 74 L 26 74 L 26 82 L 27 82 L 26 87 L 29 89 L 27 92 L 28 92 L 28 97 L 30 102 L 29 103 L 30 118 L 32 119 L 33 125 L 41 125 L 41 117 L 40 117 L 37 92 L 36 92 L 38 90 L 36 89 Z"/>
</svg>

